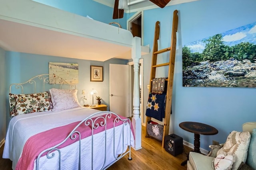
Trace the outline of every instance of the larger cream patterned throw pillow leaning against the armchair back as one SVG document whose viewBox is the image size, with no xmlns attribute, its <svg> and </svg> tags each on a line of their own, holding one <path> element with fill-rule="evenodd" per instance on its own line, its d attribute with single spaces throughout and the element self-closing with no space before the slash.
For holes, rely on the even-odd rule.
<svg viewBox="0 0 256 170">
<path fill-rule="evenodd" d="M 232 165 L 232 170 L 237 170 L 241 162 L 246 161 L 250 139 L 251 135 L 249 132 L 232 131 L 228 135 L 223 147 L 218 150 L 217 155 L 233 154 L 236 161 Z"/>
</svg>

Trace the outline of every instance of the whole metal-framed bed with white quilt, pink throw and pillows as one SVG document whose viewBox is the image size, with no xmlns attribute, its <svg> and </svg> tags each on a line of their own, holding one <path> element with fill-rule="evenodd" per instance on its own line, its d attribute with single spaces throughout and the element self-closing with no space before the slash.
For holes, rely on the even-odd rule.
<svg viewBox="0 0 256 170">
<path fill-rule="evenodd" d="M 55 84 L 57 79 L 60 84 Z M 24 94 L 27 88 L 30 94 Z M 75 84 L 53 74 L 10 85 L 13 117 L 3 158 L 12 160 L 12 169 L 100 170 L 126 154 L 132 160 L 130 119 L 82 107 L 76 92 Z"/>
</svg>

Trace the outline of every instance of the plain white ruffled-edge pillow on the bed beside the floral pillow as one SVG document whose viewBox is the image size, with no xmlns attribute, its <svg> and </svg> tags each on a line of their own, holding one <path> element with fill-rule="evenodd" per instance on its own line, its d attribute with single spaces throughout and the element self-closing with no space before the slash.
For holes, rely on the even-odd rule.
<svg viewBox="0 0 256 170">
<path fill-rule="evenodd" d="M 77 90 L 52 88 L 49 90 L 52 96 L 52 111 L 81 107 L 77 99 Z"/>
</svg>

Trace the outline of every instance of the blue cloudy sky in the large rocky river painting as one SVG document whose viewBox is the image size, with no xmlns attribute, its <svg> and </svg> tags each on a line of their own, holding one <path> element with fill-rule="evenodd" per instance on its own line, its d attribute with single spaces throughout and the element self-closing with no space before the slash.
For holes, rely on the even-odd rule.
<svg viewBox="0 0 256 170">
<path fill-rule="evenodd" d="M 256 44 L 256 22 L 235 29 L 231 29 L 221 34 L 223 43 L 228 46 L 233 46 L 242 42 Z M 206 45 L 206 43 L 204 43 L 204 40 L 208 38 L 209 37 L 194 41 L 184 46 L 190 48 L 192 53 L 202 53 Z"/>
</svg>

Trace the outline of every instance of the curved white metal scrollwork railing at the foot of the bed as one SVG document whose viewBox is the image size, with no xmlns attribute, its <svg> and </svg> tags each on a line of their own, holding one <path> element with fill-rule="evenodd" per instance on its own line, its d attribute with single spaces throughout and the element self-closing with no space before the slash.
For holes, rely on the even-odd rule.
<svg viewBox="0 0 256 170">
<path fill-rule="evenodd" d="M 102 115 L 102 113 L 103 113 L 103 115 Z M 98 116 L 99 115 L 99 116 Z M 113 139 L 115 139 L 115 129 L 116 129 L 116 123 L 118 123 L 119 121 L 123 121 L 122 122 L 122 124 L 121 125 L 118 125 L 118 126 L 122 126 L 122 154 L 118 154 L 118 156 L 116 156 L 115 155 L 115 149 L 116 149 L 116 143 L 115 143 L 115 140 L 113 141 L 113 148 L 114 148 L 114 158 L 116 159 L 116 160 L 114 160 L 113 162 L 111 162 L 110 164 L 108 164 L 108 165 L 106 165 L 106 156 L 109 156 L 109 155 L 106 155 L 106 151 L 107 151 L 107 146 L 106 146 L 106 143 L 107 143 L 107 141 L 106 141 L 106 131 L 107 131 L 107 128 L 106 128 L 106 126 L 107 126 L 107 122 L 108 122 L 108 120 L 112 117 L 112 116 L 115 116 L 116 118 L 114 119 L 114 121 L 113 121 L 113 123 L 114 123 L 114 125 L 113 125 L 113 131 L 114 131 L 114 133 L 113 133 Z M 93 120 L 93 118 L 95 118 L 94 120 Z M 99 121 L 99 119 L 100 119 L 100 122 L 98 122 Z M 103 121 L 102 121 L 102 119 L 103 119 Z M 108 123 L 110 123 L 110 122 L 108 122 Z M 50 147 L 50 148 L 48 148 L 48 149 L 45 149 L 45 150 L 43 150 L 42 152 L 40 152 L 40 154 L 38 155 L 38 157 L 37 157 L 37 159 L 36 159 L 36 170 L 39 170 L 40 169 L 40 158 L 41 158 L 41 156 L 42 155 L 45 155 L 46 154 L 46 156 L 47 156 L 47 159 L 51 159 L 51 158 L 54 158 L 54 156 L 58 156 L 58 169 L 60 170 L 61 169 L 61 156 L 62 156 L 62 153 L 61 153 L 61 150 L 60 149 L 58 149 L 58 147 L 60 146 L 60 145 L 62 145 L 63 143 L 65 143 L 68 139 L 71 139 L 71 140 L 77 140 L 78 138 L 79 138 L 79 140 L 78 141 L 75 141 L 74 143 L 79 143 L 79 154 L 78 154 L 78 156 L 79 156 L 79 158 L 78 158 L 78 169 L 80 170 L 81 169 L 81 161 L 87 161 L 87 160 L 84 160 L 84 159 L 82 159 L 81 158 L 81 150 L 83 150 L 83 148 L 81 148 L 81 132 L 80 131 L 78 131 L 77 129 L 78 129 L 78 127 L 80 127 L 80 126 L 82 126 L 82 125 L 85 125 L 85 126 L 89 126 L 89 125 L 91 125 L 91 127 L 92 128 L 90 128 L 91 129 L 91 135 L 89 136 L 91 139 L 91 149 L 92 149 L 92 152 L 91 152 L 91 156 L 92 156 L 92 160 L 91 160 L 91 168 L 92 168 L 92 170 L 94 169 L 93 167 L 94 167 L 94 162 L 93 162 L 93 158 L 94 158 L 94 155 L 93 155 L 93 150 L 95 149 L 94 148 L 94 143 L 93 143 L 93 138 L 94 138 L 94 131 L 97 129 L 97 128 L 99 128 L 99 127 L 104 127 L 104 129 L 105 129 L 105 131 L 104 131 L 104 145 L 105 145 L 105 147 L 104 147 L 104 162 L 103 162 L 103 164 L 102 164 L 102 168 L 101 169 L 103 169 L 103 170 L 105 170 L 105 169 L 107 169 L 107 168 L 109 168 L 112 164 L 114 164 L 115 162 L 117 162 L 120 158 L 122 158 L 123 156 L 125 156 L 126 154 L 129 154 L 129 157 L 128 157 L 128 160 L 132 160 L 132 158 L 131 158 L 131 140 L 129 140 L 130 141 L 130 143 L 128 143 L 127 144 L 127 149 L 124 151 L 124 149 L 125 149 L 125 138 L 124 138 L 124 136 L 125 136 L 125 134 L 124 134 L 124 128 L 125 128 L 125 126 L 127 126 L 127 125 L 129 125 L 129 135 L 128 135 L 128 137 L 129 138 L 131 138 L 131 135 L 132 135 L 132 133 L 131 133 L 131 122 L 130 122 L 130 119 L 129 118 L 127 118 L 127 119 L 122 119 L 121 117 L 119 117 L 117 114 L 115 114 L 115 113 L 113 113 L 113 112 L 110 112 L 110 111 L 100 111 L 100 112 L 97 112 L 97 113 L 94 113 L 94 114 L 92 114 L 92 115 L 90 115 L 89 117 L 87 117 L 87 118 L 85 118 L 84 120 L 82 120 L 82 121 L 80 121 L 80 123 L 78 123 L 78 125 L 76 125 L 76 127 L 69 133 L 69 135 L 62 141 L 62 142 L 60 142 L 59 144 L 57 144 L 57 145 L 55 145 L 54 147 Z M 127 127 L 126 127 L 127 128 Z M 55 152 L 54 153 L 54 151 L 57 151 L 57 152 Z M 58 154 L 58 155 L 56 155 L 56 153 Z"/>
</svg>

